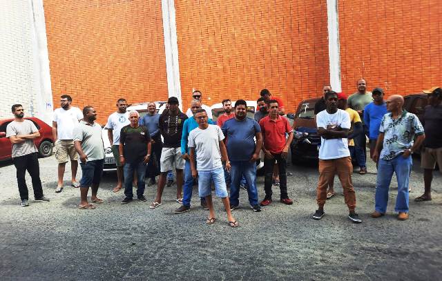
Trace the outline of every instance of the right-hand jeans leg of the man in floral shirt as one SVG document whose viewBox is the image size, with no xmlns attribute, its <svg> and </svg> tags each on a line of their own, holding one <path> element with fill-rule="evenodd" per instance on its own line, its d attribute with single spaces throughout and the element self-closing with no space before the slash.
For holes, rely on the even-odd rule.
<svg viewBox="0 0 442 281">
<path fill-rule="evenodd" d="M 394 173 L 398 180 L 398 196 L 396 197 L 396 207 L 394 211 L 398 213 L 408 213 L 409 210 L 409 192 L 410 171 L 412 168 L 412 157 L 403 157 L 399 155 L 394 160 Z"/>
</svg>

